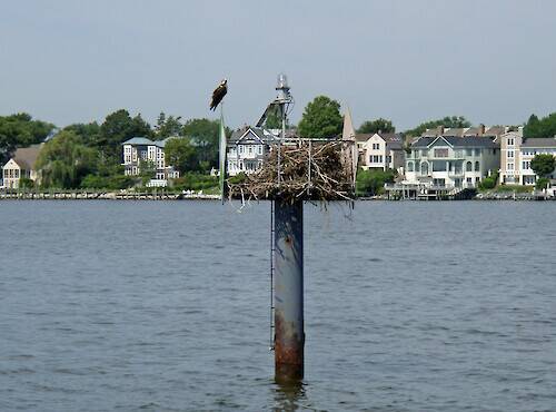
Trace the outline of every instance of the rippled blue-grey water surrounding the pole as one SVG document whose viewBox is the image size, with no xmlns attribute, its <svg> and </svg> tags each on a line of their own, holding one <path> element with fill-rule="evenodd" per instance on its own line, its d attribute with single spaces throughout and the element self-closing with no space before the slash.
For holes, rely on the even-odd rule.
<svg viewBox="0 0 556 412">
<path fill-rule="evenodd" d="M 288 389 L 267 203 L 1 203 L 0 410 L 555 411 L 555 206 L 306 205 Z"/>
</svg>

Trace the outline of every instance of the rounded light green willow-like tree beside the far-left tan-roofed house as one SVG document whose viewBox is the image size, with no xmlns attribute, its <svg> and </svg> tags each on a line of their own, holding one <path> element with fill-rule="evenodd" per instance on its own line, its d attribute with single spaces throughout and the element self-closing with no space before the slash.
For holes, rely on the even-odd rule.
<svg viewBox="0 0 556 412">
<path fill-rule="evenodd" d="M 85 146 L 73 131 L 60 131 L 41 149 L 37 169 L 44 187 L 75 188 L 95 173 L 98 151 Z"/>
</svg>

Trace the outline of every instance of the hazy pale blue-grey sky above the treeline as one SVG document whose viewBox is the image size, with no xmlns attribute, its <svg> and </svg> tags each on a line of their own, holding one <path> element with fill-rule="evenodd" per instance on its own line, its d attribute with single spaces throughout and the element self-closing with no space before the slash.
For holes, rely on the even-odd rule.
<svg viewBox="0 0 556 412">
<path fill-rule="evenodd" d="M 318 95 L 358 126 L 447 115 L 517 125 L 556 111 L 556 1 L 2 0 L 0 115 L 62 127 L 128 109 L 255 124 L 288 76 L 298 121 Z"/>
</svg>

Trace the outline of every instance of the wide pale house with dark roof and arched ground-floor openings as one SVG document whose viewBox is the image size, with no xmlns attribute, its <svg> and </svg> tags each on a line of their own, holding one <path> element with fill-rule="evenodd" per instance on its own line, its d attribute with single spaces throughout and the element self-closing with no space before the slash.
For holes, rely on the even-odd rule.
<svg viewBox="0 0 556 412">
<path fill-rule="evenodd" d="M 474 188 L 499 169 L 499 145 L 485 136 L 421 137 L 406 156 L 405 183 L 424 188 Z"/>
</svg>

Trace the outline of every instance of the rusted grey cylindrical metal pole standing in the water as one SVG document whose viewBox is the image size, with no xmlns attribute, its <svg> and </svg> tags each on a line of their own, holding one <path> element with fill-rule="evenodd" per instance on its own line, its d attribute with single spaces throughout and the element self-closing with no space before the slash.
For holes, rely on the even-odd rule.
<svg viewBox="0 0 556 412">
<path fill-rule="evenodd" d="M 304 377 L 304 204 L 275 200 L 275 379 Z"/>
</svg>

